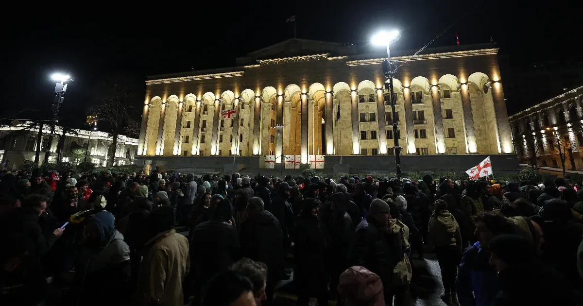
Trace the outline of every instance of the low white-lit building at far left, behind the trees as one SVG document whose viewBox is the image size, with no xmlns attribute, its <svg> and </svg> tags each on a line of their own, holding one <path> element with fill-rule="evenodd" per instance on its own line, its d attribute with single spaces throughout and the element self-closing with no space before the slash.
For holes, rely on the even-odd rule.
<svg viewBox="0 0 583 306">
<path fill-rule="evenodd" d="M 16 169 L 24 160 L 34 161 L 36 153 L 38 128 L 26 129 L 29 124 L 19 124 L 17 126 L 0 127 L 0 160 L 2 167 L 10 170 Z M 23 131 L 24 130 L 24 131 Z M 110 133 L 99 131 L 85 131 L 75 129 L 75 133 L 65 134 L 65 148 L 61 154 L 61 161 L 70 161 L 73 164 L 84 161 L 85 157 L 79 160 L 71 160 L 68 154 L 72 149 L 85 149 L 89 147 L 87 161 L 92 161 L 97 166 L 106 166 L 108 149 L 111 147 L 113 137 Z M 51 155 L 48 161 L 57 163 L 57 144 L 61 138 L 61 126 L 55 126 L 55 136 L 49 145 L 48 138 L 51 133 L 51 126 L 43 126 L 43 135 L 40 139 L 40 163 L 44 161 L 44 153 L 50 147 Z M 89 145 L 89 146 L 88 146 Z M 138 152 L 138 139 L 119 135 L 117 139 L 117 150 L 115 152 L 115 166 L 134 164 L 134 158 Z"/>
</svg>

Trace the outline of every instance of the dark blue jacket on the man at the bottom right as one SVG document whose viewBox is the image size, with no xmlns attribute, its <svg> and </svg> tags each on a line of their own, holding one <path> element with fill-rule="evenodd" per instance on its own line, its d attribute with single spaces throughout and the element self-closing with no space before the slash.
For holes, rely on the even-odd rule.
<svg viewBox="0 0 583 306">
<path fill-rule="evenodd" d="M 455 287 L 461 306 L 491 306 L 500 291 L 496 270 L 488 261 L 490 252 L 480 248 L 480 242 L 471 245 L 462 255 Z M 473 292 L 473 294 L 472 294 Z"/>
</svg>

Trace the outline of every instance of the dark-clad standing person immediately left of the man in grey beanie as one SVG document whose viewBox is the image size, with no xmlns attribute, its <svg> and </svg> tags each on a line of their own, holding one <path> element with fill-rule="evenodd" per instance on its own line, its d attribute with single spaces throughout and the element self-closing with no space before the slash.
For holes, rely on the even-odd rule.
<svg viewBox="0 0 583 306">
<path fill-rule="evenodd" d="M 328 272 L 330 275 L 330 291 L 333 298 L 337 296 L 336 289 L 340 274 L 349 268 L 348 252 L 352 242 L 352 219 L 346 212 L 348 199 L 345 194 L 338 192 L 331 196 L 332 217 L 325 223 L 328 231 L 326 244 L 326 258 L 328 258 Z"/>
</svg>

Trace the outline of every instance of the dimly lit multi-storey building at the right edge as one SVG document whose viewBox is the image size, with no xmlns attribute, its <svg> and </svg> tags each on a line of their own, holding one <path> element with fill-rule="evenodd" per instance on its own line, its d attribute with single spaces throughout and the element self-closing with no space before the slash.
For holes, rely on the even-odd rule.
<svg viewBox="0 0 583 306">
<path fill-rule="evenodd" d="M 583 86 L 508 117 L 522 163 L 583 170 Z"/>
</svg>

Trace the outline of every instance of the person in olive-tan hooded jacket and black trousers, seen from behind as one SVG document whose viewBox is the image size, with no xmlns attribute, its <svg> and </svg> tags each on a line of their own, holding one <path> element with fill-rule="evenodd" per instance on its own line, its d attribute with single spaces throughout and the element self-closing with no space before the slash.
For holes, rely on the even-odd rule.
<svg viewBox="0 0 583 306">
<path fill-rule="evenodd" d="M 463 243 L 458 223 L 454 215 L 445 209 L 446 206 L 447 202 L 436 201 L 435 211 L 429 220 L 427 248 L 435 247 L 444 287 L 441 300 L 449 305 L 457 303 L 454 284 Z"/>
</svg>

